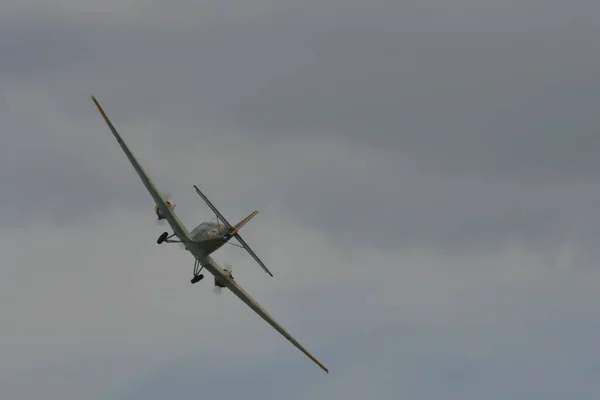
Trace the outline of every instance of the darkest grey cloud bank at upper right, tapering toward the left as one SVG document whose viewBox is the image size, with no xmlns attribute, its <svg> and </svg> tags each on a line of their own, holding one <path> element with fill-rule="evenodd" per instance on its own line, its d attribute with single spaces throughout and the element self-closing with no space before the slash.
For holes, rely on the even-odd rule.
<svg viewBox="0 0 600 400">
<path fill-rule="evenodd" d="M 595 32 L 328 32 L 232 115 L 273 132 L 342 132 L 443 171 L 594 176 Z"/>
</svg>

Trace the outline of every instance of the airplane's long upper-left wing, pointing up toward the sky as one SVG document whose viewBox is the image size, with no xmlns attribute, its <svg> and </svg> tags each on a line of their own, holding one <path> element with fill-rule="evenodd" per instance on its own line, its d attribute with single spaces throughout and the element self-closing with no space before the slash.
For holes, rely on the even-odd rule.
<svg viewBox="0 0 600 400">
<path fill-rule="evenodd" d="M 106 123 L 108 124 L 108 127 L 110 128 L 113 135 L 115 136 L 115 139 L 117 139 L 117 142 L 119 142 L 119 144 L 121 145 L 121 148 L 123 149 L 123 151 L 125 152 L 125 155 L 131 162 L 131 165 L 135 169 L 135 172 L 137 172 L 137 174 L 140 176 L 140 179 L 144 183 L 144 186 L 146 186 L 146 189 L 148 189 L 148 192 L 150 192 L 150 195 L 152 196 L 156 205 L 160 209 L 161 214 L 165 216 L 166 220 L 169 222 L 169 225 L 171 225 L 171 228 L 173 228 L 173 232 L 175 232 L 177 237 L 179 239 L 181 239 L 182 241 L 188 239 L 189 233 L 188 233 L 187 229 L 185 228 L 185 226 L 183 225 L 183 223 L 179 220 L 179 218 L 177 217 L 177 215 L 175 214 L 173 209 L 167 205 L 166 200 L 160 194 L 160 192 L 158 191 L 156 186 L 154 186 L 154 183 L 152 183 L 152 180 L 150 179 L 148 174 L 146 174 L 146 171 L 144 171 L 142 166 L 135 159 L 135 157 L 133 156 L 133 153 L 129 150 L 129 148 L 127 147 L 127 145 L 121 138 L 121 135 L 119 135 L 119 133 L 117 132 L 117 130 L 115 129 L 113 124 L 110 122 L 110 120 L 106 116 L 106 113 L 104 112 L 102 107 L 100 107 L 100 104 L 98 103 L 98 101 L 96 100 L 96 98 L 94 96 L 92 96 L 92 100 L 94 101 L 94 104 L 98 108 L 98 111 L 100 111 L 100 114 L 102 115 L 102 117 L 104 118 Z"/>
</svg>

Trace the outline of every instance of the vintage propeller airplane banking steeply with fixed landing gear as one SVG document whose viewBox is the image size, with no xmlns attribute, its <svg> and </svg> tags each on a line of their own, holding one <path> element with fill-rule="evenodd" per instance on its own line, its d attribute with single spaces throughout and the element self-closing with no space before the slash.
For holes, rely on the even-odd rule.
<svg viewBox="0 0 600 400">
<path fill-rule="evenodd" d="M 181 243 L 194 256 L 194 272 L 193 278 L 191 280 L 192 284 L 195 284 L 201 281 L 204 278 L 204 275 L 200 272 L 202 269 L 206 269 L 214 276 L 214 285 L 215 288 L 228 288 L 231 290 L 233 294 L 235 294 L 240 300 L 242 300 L 248 307 L 250 307 L 254 312 L 256 312 L 262 319 L 264 319 L 268 324 L 270 324 L 277 332 L 279 332 L 283 337 L 285 337 L 288 341 L 290 341 L 298 350 L 303 352 L 311 361 L 317 364 L 321 369 L 323 369 L 326 373 L 329 373 L 329 370 L 321 364 L 312 354 L 310 354 L 292 335 L 290 335 L 275 319 L 267 313 L 265 309 L 263 309 L 257 302 L 254 300 L 248 293 L 242 289 L 242 287 L 234 280 L 232 271 L 230 268 L 221 268 L 216 261 L 211 257 L 211 254 L 216 250 L 220 249 L 232 238 L 235 238 L 241 246 L 244 248 L 254 260 L 260 265 L 260 267 L 271 277 L 273 274 L 271 271 L 267 269 L 267 267 L 263 264 L 263 262 L 258 258 L 258 256 L 252 251 L 250 246 L 242 239 L 239 234 L 239 230 L 246 225 L 252 218 L 258 214 L 258 210 L 252 212 L 246 218 L 242 219 L 236 225 L 231 225 L 225 217 L 217 210 L 217 208 L 208 200 L 208 198 L 200 191 L 200 189 L 194 185 L 194 189 L 196 193 L 204 200 L 207 206 L 215 213 L 216 222 L 202 222 L 196 228 L 194 228 L 191 232 L 185 227 L 185 225 L 179 220 L 177 215 L 175 214 L 174 208 L 175 204 L 165 199 L 152 180 L 148 176 L 148 174 L 144 171 L 142 166 L 138 163 L 136 158 L 133 156 L 133 153 L 129 150 L 121 135 L 117 132 L 112 122 L 108 119 L 106 113 L 100 106 L 100 103 L 96 100 L 94 96 L 91 96 L 92 101 L 98 108 L 98 111 L 106 121 L 106 124 L 110 128 L 117 142 L 121 145 L 123 152 L 131 162 L 131 165 L 139 175 L 142 180 L 144 186 L 152 196 L 152 199 L 156 203 L 154 207 L 154 212 L 158 218 L 158 220 L 166 220 L 171 228 L 173 229 L 173 234 L 169 235 L 168 232 L 163 232 L 156 241 L 158 244 L 161 243 Z M 172 239 L 173 237 L 177 237 L 177 239 Z M 234 243 L 230 243 L 235 245 Z"/>
</svg>

